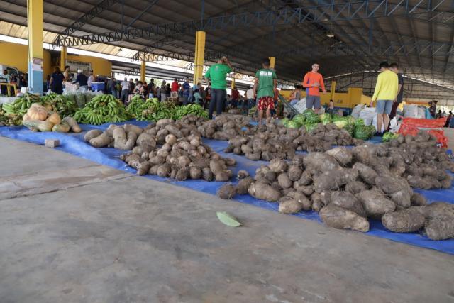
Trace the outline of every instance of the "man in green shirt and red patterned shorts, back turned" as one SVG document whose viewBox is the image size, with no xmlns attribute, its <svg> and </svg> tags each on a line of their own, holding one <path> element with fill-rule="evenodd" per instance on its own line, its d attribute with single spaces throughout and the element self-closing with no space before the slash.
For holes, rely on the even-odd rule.
<svg viewBox="0 0 454 303">
<path fill-rule="evenodd" d="M 267 111 L 267 123 L 270 122 L 270 112 L 275 109 L 275 87 L 277 76 L 275 70 L 270 68 L 270 59 L 262 61 L 263 68 L 255 73 L 254 99 L 258 99 L 258 125 L 262 125 L 263 111 Z"/>
</svg>

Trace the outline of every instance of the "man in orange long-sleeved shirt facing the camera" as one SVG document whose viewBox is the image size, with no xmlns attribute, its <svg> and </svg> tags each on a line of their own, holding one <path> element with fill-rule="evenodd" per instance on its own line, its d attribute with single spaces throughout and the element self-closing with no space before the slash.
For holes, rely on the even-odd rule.
<svg viewBox="0 0 454 303">
<path fill-rule="evenodd" d="M 320 87 L 326 93 L 323 77 L 319 74 L 320 65 L 314 63 L 311 72 L 304 75 L 303 87 L 306 87 L 306 108 L 312 109 L 319 114 L 320 104 Z"/>
</svg>

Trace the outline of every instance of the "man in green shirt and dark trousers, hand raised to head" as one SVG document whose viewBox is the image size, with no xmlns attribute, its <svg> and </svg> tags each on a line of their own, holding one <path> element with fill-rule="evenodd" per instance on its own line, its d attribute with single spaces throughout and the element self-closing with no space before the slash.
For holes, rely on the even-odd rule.
<svg viewBox="0 0 454 303">
<path fill-rule="evenodd" d="M 222 114 L 223 104 L 226 99 L 226 77 L 229 72 L 232 72 L 232 65 L 225 56 L 219 59 L 217 64 L 211 65 L 206 71 L 206 83 L 208 83 L 208 86 L 211 84 L 211 100 L 208 109 L 209 119 L 213 119 L 214 106 L 216 106 L 216 114 Z"/>
</svg>

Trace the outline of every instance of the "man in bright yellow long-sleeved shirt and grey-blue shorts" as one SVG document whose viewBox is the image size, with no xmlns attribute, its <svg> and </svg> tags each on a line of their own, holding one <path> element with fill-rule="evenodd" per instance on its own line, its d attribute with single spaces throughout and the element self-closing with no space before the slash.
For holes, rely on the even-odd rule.
<svg viewBox="0 0 454 303">
<path fill-rule="evenodd" d="M 392 104 L 396 100 L 399 88 L 399 78 L 395 72 L 389 70 L 388 62 L 379 65 L 380 75 L 377 77 L 375 92 L 370 101 L 370 106 L 377 100 L 377 136 L 382 136 L 382 128 L 386 130 L 389 125 L 389 114 Z"/>
</svg>

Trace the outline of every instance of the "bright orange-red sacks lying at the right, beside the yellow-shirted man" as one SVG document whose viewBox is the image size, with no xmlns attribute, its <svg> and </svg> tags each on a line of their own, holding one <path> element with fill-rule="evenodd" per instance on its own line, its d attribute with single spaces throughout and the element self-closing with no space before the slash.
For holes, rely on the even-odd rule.
<svg viewBox="0 0 454 303">
<path fill-rule="evenodd" d="M 416 136 L 419 131 L 427 131 L 437 138 L 437 142 L 442 148 L 447 148 L 448 138 L 445 137 L 445 132 L 443 131 L 446 119 L 446 117 L 440 119 L 404 118 L 397 133 Z"/>
</svg>

